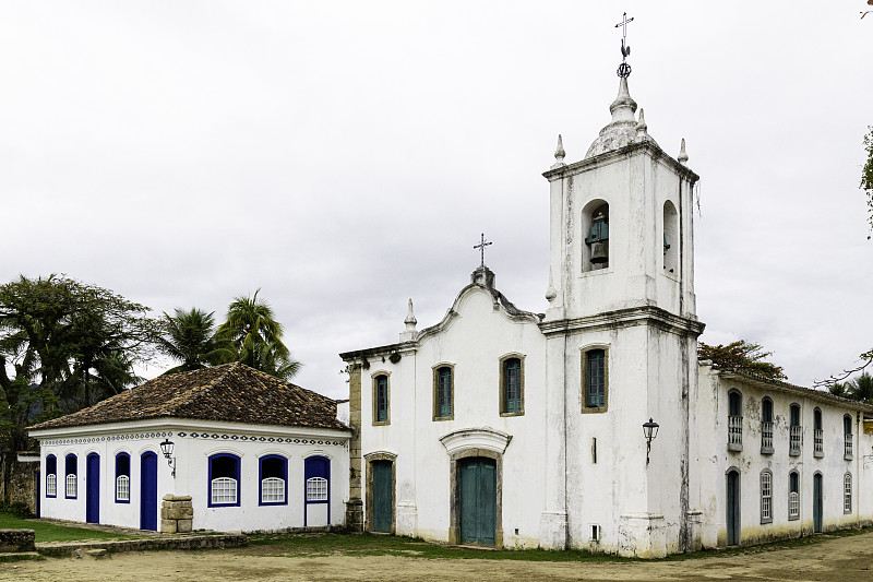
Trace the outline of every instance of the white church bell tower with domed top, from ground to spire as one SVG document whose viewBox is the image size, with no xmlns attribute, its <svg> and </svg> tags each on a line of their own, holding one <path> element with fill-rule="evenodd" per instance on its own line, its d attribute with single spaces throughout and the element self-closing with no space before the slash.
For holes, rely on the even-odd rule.
<svg viewBox="0 0 873 582">
<path fill-rule="evenodd" d="M 631 22 L 619 24 L 625 29 Z M 697 321 L 693 189 L 648 134 L 631 97 L 622 38 L 611 121 L 566 163 L 559 135 L 550 186 L 545 547 L 599 547 L 657 557 L 691 545 Z M 642 426 L 660 425 L 647 453 Z M 565 477 L 565 478 L 564 478 Z M 596 526 L 596 527 L 595 527 Z M 585 546 L 583 546 L 585 547 Z"/>
</svg>

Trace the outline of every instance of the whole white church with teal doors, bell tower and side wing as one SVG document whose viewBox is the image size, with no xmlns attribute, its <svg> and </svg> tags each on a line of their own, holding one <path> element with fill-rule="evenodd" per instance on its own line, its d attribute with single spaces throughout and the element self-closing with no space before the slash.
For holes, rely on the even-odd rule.
<svg viewBox="0 0 873 582">
<path fill-rule="evenodd" d="M 435 325 L 418 331 L 410 301 L 399 342 L 340 355 L 350 525 L 654 557 L 873 518 L 873 408 L 697 363 L 698 177 L 626 76 L 610 112 L 578 162 L 559 138 L 543 175 L 546 313 L 482 264 Z"/>
</svg>

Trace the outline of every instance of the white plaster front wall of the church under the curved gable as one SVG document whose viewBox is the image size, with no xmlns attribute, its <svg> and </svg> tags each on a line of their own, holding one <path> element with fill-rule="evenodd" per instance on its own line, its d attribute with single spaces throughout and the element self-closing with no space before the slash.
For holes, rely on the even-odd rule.
<svg viewBox="0 0 873 582">
<path fill-rule="evenodd" d="M 397 364 L 371 361 L 361 382 L 364 455 L 396 454 L 398 513 L 415 510 L 414 531 L 398 533 L 447 541 L 450 459 L 440 438 L 463 428 L 490 427 L 512 435 L 503 455 L 504 545 L 536 547 L 542 512 L 545 337 L 536 323 L 514 321 L 494 308 L 491 295 L 470 287 L 456 316 L 424 337 Z M 523 416 L 500 416 L 500 358 L 524 356 Z M 433 419 L 433 366 L 454 365 L 454 419 Z M 391 425 L 372 426 L 372 377 L 390 373 Z M 366 471 L 366 468 L 364 468 Z M 366 489 L 366 479 L 362 479 Z M 366 492 L 364 492 L 366 495 Z M 516 528 L 518 534 L 515 534 Z"/>
</svg>

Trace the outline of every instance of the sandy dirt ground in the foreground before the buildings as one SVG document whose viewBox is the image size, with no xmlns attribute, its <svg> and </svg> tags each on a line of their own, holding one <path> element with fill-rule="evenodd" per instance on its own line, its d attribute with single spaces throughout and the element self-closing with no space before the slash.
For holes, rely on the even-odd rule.
<svg viewBox="0 0 873 582">
<path fill-rule="evenodd" d="M 682 561 L 542 562 L 421 559 L 397 556 L 268 556 L 268 548 L 116 554 L 0 563 L 0 580 L 151 581 L 512 581 L 526 580 L 793 580 L 873 581 L 873 533 L 808 546 Z"/>
</svg>

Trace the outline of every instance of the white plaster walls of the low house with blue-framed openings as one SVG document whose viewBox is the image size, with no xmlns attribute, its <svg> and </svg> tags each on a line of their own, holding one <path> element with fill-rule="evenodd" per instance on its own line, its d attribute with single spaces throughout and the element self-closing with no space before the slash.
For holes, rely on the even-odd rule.
<svg viewBox="0 0 873 582">
<path fill-rule="evenodd" d="M 292 429 L 283 427 L 227 426 L 219 423 L 162 426 L 151 430 L 143 423 L 128 423 L 77 429 L 39 431 L 41 456 L 41 513 L 46 518 L 85 521 L 85 459 L 91 452 L 100 455 L 100 523 L 140 527 L 140 458 L 146 451 L 157 454 L 158 511 L 167 494 L 190 495 L 195 530 L 254 531 L 303 526 L 304 460 L 312 455 L 331 461 L 331 524 L 343 525 L 348 501 L 348 433 L 336 430 Z M 193 438 L 207 433 L 207 438 Z M 184 436 L 183 436 L 184 435 Z M 216 438 L 213 438 L 216 435 Z M 242 441 L 241 438 L 254 439 Z M 236 437 L 236 438 L 235 438 Z M 159 443 L 169 438 L 176 443 L 176 477 L 164 459 Z M 263 438 L 264 440 L 261 440 Z M 275 442 L 296 438 L 304 443 Z M 270 442 L 273 439 L 274 442 Z M 314 441 L 314 442 L 313 442 Z M 319 443 L 319 441 L 321 443 Z M 131 455 L 130 503 L 115 501 L 115 458 L 118 452 Z M 64 499 L 64 456 L 79 455 L 79 496 Z M 207 507 L 208 458 L 219 452 L 240 456 L 240 506 Z M 58 456 L 58 497 L 45 494 L 45 463 L 48 454 Z M 287 504 L 259 504 L 259 458 L 280 454 L 288 459 Z M 158 515 L 159 518 L 159 515 Z M 158 527 L 160 520 L 158 519 Z"/>
</svg>

